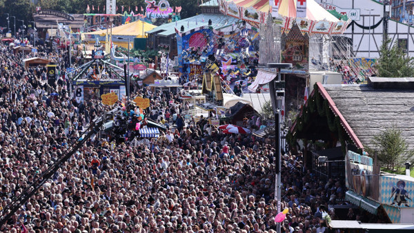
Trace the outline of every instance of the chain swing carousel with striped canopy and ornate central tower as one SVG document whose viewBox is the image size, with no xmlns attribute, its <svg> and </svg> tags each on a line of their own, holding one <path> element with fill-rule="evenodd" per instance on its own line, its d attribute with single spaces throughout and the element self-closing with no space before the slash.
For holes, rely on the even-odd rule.
<svg viewBox="0 0 414 233">
<path fill-rule="evenodd" d="M 355 65 L 352 46 L 342 37 L 351 20 L 331 14 L 314 0 L 219 0 L 219 10 L 259 28 L 260 64 L 293 65 L 290 69 L 259 69 L 248 88 L 257 92 L 281 74 L 286 81 L 284 112 L 299 110 L 313 81 L 362 83 L 372 74 Z"/>
</svg>

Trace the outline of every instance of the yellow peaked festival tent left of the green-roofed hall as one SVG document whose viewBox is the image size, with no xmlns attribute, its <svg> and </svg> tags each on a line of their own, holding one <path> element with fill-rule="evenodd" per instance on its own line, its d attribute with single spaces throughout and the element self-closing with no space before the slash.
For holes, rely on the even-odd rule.
<svg viewBox="0 0 414 233">
<path fill-rule="evenodd" d="M 122 46 L 124 48 L 128 48 L 128 38 L 130 39 L 130 48 L 133 48 L 133 43 L 135 38 L 146 38 L 146 32 L 156 28 L 157 26 L 152 25 L 150 23 L 146 23 L 144 21 L 134 21 L 132 23 L 126 23 L 121 26 L 117 26 L 112 28 L 112 42 L 115 45 Z M 108 30 L 99 30 L 95 32 L 85 32 L 82 34 L 82 37 L 86 41 L 96 41 L 98 38 L 101 43 L 105 43 L 106 41 L 106 34 L 108 36 L 111 33 L 111 29 Z M 117 37 L 122 37 L 125 39 L 118 39 Z"/>
</svg>

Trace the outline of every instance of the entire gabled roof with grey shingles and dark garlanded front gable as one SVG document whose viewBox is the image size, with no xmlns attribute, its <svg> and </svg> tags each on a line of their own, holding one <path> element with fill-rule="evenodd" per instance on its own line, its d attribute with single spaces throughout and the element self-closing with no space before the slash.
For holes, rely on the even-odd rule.
<svg viewBox="0 0 414 233">
<path fill-rule="evenodd" d="M 359 150 L 393 125 L 402 131 L 408 149 L 414 149 L 414 78 L 369 77 L 368 84 L 316 83 L 288 134 L 296 139 L 322 140 L 325 148 L 339 142 Z"/>
</svg>

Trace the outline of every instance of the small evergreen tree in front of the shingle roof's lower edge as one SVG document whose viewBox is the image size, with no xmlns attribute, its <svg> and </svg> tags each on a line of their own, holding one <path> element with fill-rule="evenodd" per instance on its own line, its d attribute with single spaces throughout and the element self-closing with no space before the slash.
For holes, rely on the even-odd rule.
<svg viewBox="0 0 414 233">
<path fill-rule="evenodd" d="M 382 166 L 386 166 L 387 169 L 391 166 L 392 170 L 398 170 L 405 161 L 412 160 L 413 151 L 408 150 L 408 145 L 402 138 L 402 131 L 395 125 L 375 135 L 371 144 L 372 148 L 366 147 L 368 153 L 377 152 Z"/>
</svg>

